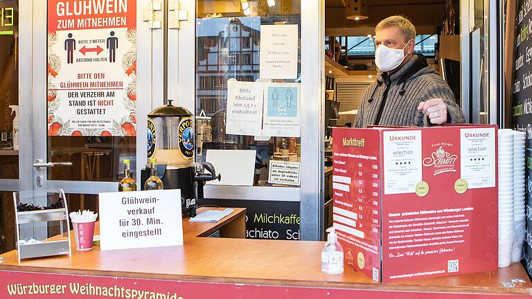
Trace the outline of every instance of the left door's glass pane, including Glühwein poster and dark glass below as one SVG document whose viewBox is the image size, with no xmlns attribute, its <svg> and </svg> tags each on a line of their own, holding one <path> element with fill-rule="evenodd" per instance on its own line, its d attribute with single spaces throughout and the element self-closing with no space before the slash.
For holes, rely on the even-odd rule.
<svg viewBox="0 0 532 299">
<path fill-rule="evenodd" d="M 136 1 L 95 19 L 47 5 L 48 180 L 118 181 L 125 159 L 136 169 Z"/>
</svg>

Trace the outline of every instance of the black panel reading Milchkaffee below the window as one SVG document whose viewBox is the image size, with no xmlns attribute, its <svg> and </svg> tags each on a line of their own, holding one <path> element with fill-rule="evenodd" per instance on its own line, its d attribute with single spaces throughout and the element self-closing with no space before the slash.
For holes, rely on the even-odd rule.
<svg viewBox="0 0 532 299">
<path fill-rule="evenodd" d="M 247 239 L 299 239 L 299 201 L 202 199 L 199 205 L 247 208 Z"/>
</svg>

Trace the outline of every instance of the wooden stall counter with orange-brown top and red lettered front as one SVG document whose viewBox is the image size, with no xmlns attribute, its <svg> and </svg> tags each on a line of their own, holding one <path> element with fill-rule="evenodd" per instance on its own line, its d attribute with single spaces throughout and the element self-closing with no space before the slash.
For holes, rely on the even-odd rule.
<svg viewBox="0 0 532 299">
<path fill-rule="evenodd" d="M 378 284 L 347 266 L 340 275 L 321 273 L 323 242 L 243 239 L 245 209 L 233 208 L 218 223 L 185 218 L 183 224 L 184 246 L 118 251 L 94 246 L 91 251 L 73 249 L 71 257 L 20 264 L 15 251 L 5 253 L 0 264 L 1 298 L 32 298 L 29 292 L 33 298 L 165 299 L 470 298 L 472 294 L 518 298 L 532 294 L 521 264 L 488 273 Z M 206 237 L 217 230 L 220 237 Z M 512 280 L 515 287 L 502 286 Z"/>
</svg>

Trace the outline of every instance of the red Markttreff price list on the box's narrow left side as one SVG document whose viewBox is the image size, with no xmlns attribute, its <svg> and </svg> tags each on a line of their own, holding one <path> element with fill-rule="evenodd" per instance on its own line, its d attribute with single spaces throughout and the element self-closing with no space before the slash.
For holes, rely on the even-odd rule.
<svg viewBox="0 0 532 299">
<path fill-rule="evenodd" d="M 332 138 L 332 219 L 344 262 L 379 281 L 379 132 L 334 129 Z"/>
</svg>

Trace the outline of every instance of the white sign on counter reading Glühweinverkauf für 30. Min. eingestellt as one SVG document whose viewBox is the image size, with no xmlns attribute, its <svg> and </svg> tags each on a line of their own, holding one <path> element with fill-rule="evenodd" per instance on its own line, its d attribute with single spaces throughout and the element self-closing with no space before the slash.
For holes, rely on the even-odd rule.
<svg viewBox="0 0 532 299">
<path fill-rule="evenodd" d="M 181 190 L 99 194 L 100 249 L 183 245 Z"/>
</svg>

